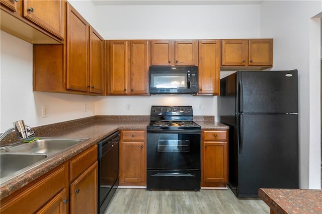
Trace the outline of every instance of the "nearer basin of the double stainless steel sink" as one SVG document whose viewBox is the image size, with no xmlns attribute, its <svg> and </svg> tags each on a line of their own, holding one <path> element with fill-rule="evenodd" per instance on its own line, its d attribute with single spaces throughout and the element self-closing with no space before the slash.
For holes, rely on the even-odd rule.
<svg viewBox="0 0 322 214">
<path fill-rule="evenodd" d="M 1 154 L 0 155 L 0 178 L 14 175 L 16 172 L 31 166 L 45 158 L 45 154 Z"/>
</svg>

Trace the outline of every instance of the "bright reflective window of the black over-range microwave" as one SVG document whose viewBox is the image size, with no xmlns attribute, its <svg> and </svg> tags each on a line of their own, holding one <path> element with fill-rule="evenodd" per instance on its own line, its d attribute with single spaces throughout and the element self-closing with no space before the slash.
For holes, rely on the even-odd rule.
<svg viewBox="0 0 322 214">
<path fill-rule="evenodd" d="M 151 74 L 151 87 L 155 88 L 181 88 L 187 87 L 186 73 L 155 73 Z"/>
</svg>

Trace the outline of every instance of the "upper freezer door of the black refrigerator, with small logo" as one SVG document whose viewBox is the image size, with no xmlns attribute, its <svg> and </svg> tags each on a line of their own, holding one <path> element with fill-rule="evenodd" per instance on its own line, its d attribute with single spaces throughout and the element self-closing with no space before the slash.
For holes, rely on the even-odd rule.
<svg viewBox="0 0 322 214">
<path fill-rule="evenodd" d="M 298 113 L 297 70 L 237 71 L 237 113 Z"/>
</svg>

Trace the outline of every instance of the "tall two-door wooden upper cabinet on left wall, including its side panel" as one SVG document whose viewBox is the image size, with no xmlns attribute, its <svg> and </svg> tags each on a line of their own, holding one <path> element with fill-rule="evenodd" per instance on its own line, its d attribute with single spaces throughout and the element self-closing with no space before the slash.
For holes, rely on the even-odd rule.
<svg viewBox="0 0 322 214">
<path fill-rule="evenodd" d="M 103 95 L 103 38 L 66 4 L 64 45 L 33 46 L 34 90 Z"/>
</svg>

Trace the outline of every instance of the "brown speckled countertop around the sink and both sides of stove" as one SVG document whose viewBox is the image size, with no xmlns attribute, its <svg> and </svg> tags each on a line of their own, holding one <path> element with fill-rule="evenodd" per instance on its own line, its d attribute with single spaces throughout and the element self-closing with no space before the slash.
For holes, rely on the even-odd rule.
<svg viewBox="0 0 322 214">
<path fill-rule="evenodd" d="M 66 162 L 78 153 L 83 152 L 90 146 L 95 145 L 98 141 L 109 136 L 113 132 L 124 129 L 146 129 L 146 126 L 149 123 L 146 118 L 140 120 L 140 117 L 131 117 L 131 119 L 133 120 L 129 120 L 129 118 L 114 118 L 113 116 L 109 117 L 109 119 L 106 119 L 103 116 L 95 116 L 90 119 L 80 119 L 72 122 L 47 125 L 38 129 L 36 127 L 36 137 L 89 138 L 89 140 L 77 144 L 71 149 L 49 158 L 39 166 L 2 183 L 0 186 L 0 200 Z M 196 121 L 196 123 L 198 123 L 202 129 L 228 129 L 227 126 L 214 121 Z"/>
</svg>

